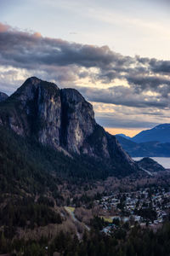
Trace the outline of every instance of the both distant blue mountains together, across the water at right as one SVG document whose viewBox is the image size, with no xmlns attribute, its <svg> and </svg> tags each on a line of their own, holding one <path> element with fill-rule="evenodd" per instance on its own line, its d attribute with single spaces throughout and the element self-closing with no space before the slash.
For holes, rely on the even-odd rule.
<svg viewBox="0 0 170 256">
<path fill-rule="evenodd" d="M 132 157 L 170 157 L 170 124 L 157 125 L 134 137 L 117 134 L 116 138 Z"/>
</svg>

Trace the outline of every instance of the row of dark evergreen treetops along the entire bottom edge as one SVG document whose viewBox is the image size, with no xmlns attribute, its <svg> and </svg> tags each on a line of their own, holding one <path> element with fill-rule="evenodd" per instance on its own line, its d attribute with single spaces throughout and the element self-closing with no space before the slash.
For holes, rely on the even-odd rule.
<svg viewBox="0 0 170 256">
<path fill-rule="evenodd" d="M 60 232 L 53 241 L 42 237 L 40 241 L 13 240 L 9 242 L 0 234 L 2 253 L 13 255 L 53 256 L 160 256 L 170 255 L 170 223 L 153 231 L 136 225 L 130 231 L 113 230 L 110 236 L 98 230 L 84 233 L 82 240 L 77 236 Z"/>
</svg>

